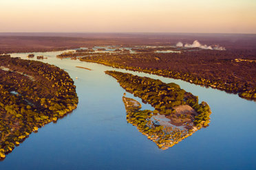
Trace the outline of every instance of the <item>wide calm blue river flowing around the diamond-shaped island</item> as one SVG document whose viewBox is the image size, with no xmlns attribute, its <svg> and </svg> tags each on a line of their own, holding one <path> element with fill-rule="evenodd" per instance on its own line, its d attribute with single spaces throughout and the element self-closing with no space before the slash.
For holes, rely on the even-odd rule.
<svg viewBox="0 0 256 170">
<path fill-rule="evenodd" d="M 34 53 L 65 69 L 76 85 L 76 110 L 57 123 L 30 134 L 15 147 L 0 169 L 256 169 L 256 104 L 238 95 L 181 80 L 114 69 L 109 66 L 58 59 L 57 52 Z M 26 58 L 28 53 L 13 53 Z M 36 60 L 36 57 L 35 59 Z M 84 66 L 79 69 L 76 66 Z M 126 121 L 121 88 L 106 70 L 175 82 L 211 107 L 211 123 L 170 147 L 158 149 Z M 78 79 L 76 79 L 78 77 Z M 128 97 L 133 97 L 127 94 Z M 141 102 L 137 97 L 133 97 Z M 142 104 L 142 109 L 152 109 Z"/>
</svg>

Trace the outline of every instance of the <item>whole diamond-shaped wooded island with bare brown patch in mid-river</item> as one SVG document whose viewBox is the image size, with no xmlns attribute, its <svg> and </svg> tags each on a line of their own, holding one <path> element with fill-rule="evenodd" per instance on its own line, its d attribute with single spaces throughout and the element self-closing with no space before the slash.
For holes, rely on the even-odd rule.
<svg viewBox="0 0 256 170">
<path fill-rule="evenodd" d="M 198 97 L 180 89 L 178 84 L 165 84 L 149 77 L 139 77 L 118 71 L 105 71 L 116 78 L 122 88 L 151 104 L 155 110 L 140 110 L 138 101 L 122 97 L 127 121 L 156 143 L 167 149 L 206 127 L 211 109 L 206 102 L 198 104 Z"/>
</svg>

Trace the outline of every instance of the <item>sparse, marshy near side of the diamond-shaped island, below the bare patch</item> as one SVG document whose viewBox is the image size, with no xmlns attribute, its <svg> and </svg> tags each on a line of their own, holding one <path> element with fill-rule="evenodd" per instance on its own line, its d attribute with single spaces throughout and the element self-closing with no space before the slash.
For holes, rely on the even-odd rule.
<svg viewBox="0 0 256 170">
<path fill-rule="evenodd" d="M 184 138 L 191 136 L 197 129 L 179 128 L 175 125 L 164 125 L 156 122 L 156 113 L 151 110 L 140 110 L 139 102 L 122 97 L 127 110 L 127 122 L 138 128 L 138 131 L 156 143 L 160 149 L 168 149 Z M 182 119 L 182 118 L 180 118 Z"/>
</svg>

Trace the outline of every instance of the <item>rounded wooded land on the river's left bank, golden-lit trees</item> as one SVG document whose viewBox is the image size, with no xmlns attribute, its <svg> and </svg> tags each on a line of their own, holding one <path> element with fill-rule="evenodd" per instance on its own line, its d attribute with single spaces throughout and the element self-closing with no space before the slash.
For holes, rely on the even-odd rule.
<svg viewBox="0 0 256 170">
<path fill-rule="evenodd" d="M 32 132 L 78 104 L 67 72 L 34 60 L 0 56 L 0 158 Z"/>
</svg>

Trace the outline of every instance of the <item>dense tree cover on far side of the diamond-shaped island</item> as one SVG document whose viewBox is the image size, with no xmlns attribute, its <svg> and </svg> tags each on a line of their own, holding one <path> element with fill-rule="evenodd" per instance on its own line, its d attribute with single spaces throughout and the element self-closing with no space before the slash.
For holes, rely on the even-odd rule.
<svg viewBox="0 0 256 170">
<path fill-rule="evenodd" d="M 202 104 L 198 104 L 198 97 L 187 93 L 178 84 L 165 84 L 160 80 L 118 71 L 105 71 L 105 73 L 116 78 L 120 86 L 129 93 L 133 93 L 143 101 L 151 104 L 155 108 L 153 113 L 164 114 L 169 117 L 178 116 L 181 119 L 184 117 L 185 119 L 186 115 L 176 113 L 175 107 L 188 105 L 197 112 L 196 115 L 193 115 L 195 127 L 201 128 L 209 125 L 211 110 L 208 104 L 204 101 L 202 101 Z"/>
</svg>

